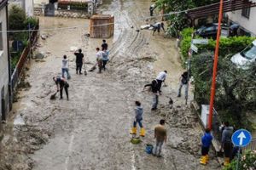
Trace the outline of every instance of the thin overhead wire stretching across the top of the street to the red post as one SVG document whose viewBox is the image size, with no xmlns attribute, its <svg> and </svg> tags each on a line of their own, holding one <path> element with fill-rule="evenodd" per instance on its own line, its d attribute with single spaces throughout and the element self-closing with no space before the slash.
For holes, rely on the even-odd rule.
<svg viewBox="0 0 256 170">
<path fill-rule="evenodd" d="M 218 4 L 218 3 L 212 3 L 212 4 Z M 159 17 L 164 17 L 164 16 L 169 16 L 172 14 L 182 14 L 182 13 L 188 13 L 191 10 L 195 9 L 200 9 L 200 8 L 205 8 L 208 6 L 211 6 L 212 4 L 201 6 L 201 7 L 196 7 L 196 8 L 189 8 L 185 10 L 180 10 L 180 11 L 173 11 L 167 14 L 158 14 L 155 16 L 148 16 L 148 17 L 139 17 L 137 19 L 133 19 L 131 21 L 137 21 L 137 20 L 148 20 L 148 19 L 154 19 L 154 18 L 159 18 Z M 108 24 L 101 24 L 101 25 L 95 25 L 92 27 L 97 27 L 97 26 L 110 26 L 114 24 L 122 24 L 124 21 L 117 21 L 115 23 L 108 23 Z M 0 31 L 4 33 L 11 33 L 11 32 L 30 32 L 30 31 L 57 31 L 57 30 L 71 30 L 71 29 L 77 29 L 77 28 L 89 28 L 88 24 L 85 24 L 85 26 L 68 26 L 68 27 L 55 27 L 55 28 L 43 28 L 43 29 L 31 29 L 31 30 L 10 30 L 10 31 Z"/>
</svg>

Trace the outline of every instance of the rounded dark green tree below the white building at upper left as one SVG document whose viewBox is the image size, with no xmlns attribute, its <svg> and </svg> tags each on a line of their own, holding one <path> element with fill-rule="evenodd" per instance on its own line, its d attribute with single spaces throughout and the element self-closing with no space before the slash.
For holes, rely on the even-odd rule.
<svg viewBox="0 0 256 170">
<path fill-rule="evenodd" d="M 10 30 L 23 30 L 26 28 L 24 22 L 26 20 L 25 11 L 14 5 L 9 10 L 9 29 Z"/>
</svg>

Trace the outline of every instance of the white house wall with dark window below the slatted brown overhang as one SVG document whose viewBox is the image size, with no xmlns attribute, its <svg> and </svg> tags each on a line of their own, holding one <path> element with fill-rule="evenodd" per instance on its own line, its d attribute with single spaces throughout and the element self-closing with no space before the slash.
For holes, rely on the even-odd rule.
<svg viewBox="0 0 256 170">
<path fill-rule="evenodd" d="M 256 3 L 256 0 L 251 0 Z M 228 13 L 229 20 L 240 26 L 242 35 L 256 37 L 256 7 L 244 8 Z"/>
</svg>

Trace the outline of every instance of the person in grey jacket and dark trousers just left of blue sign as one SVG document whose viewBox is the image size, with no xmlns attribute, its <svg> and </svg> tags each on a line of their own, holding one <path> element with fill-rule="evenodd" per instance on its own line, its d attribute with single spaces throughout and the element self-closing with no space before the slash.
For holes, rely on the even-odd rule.
<svg viewBox="0 0 256 170">
<path fill-rule="evenodd" d="M 233 127 L 230 127 L 229 122 L 224 122 L 224 130 L 221 137 L 221 147 L 224 150 L 224 166 L 230 164 L 230 158 L 232 156 L 233 144 L 232 144 Z"/>
</svg>

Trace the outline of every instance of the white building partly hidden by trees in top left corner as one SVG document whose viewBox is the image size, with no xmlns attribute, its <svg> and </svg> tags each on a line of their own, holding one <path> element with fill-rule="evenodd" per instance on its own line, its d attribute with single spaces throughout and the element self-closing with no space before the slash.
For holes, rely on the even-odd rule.
<svg viewBox="0 0 256 170">
<path fill-rule="evenodd" d="M 33 16 L 34 14 L 34 2 L 33 0 L 9 0 L 9 7 L 12 5 L 20 6 L 26 12 L 27 16 Z"/>
</svg>

